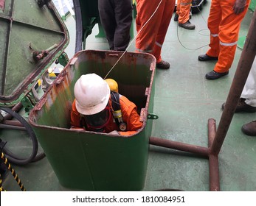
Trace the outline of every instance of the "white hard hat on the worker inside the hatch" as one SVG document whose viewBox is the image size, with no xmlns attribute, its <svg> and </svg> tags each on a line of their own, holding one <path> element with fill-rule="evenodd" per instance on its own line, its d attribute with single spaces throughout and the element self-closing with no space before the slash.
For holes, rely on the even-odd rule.
<svg viewBox="0 0 256 206">
<path fill-rule="evenodd" d="M 82 75 L 75 83 L 75 106 L 83 115 L 94 115 L 108 104 L 110 89 L 97 74 Z"/>
</svg>

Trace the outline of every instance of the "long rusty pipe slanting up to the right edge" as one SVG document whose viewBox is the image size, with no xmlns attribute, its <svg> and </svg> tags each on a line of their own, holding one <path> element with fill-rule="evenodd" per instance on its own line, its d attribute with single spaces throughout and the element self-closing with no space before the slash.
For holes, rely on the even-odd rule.
<svg viewBox="0 0 256 206">
<path fill-rule="evenodd" d="M 221 146 L 224 143 L 226 132 L 229 129 L 229 125 L 232 121 L 232 117 L 235 113 L 235 108 L 238 105 L 243 87 L 246 83 L 249 71 L 252 68 L 252 63 L 256 54 L 256 13 L 252 17 L 251 24 L 249 26 L 246 42 L 243 46 L 243 51 L 238 63 L 238 67 L 235 71 L 235 77 L 232 81 L 229 95 L 226 99 L 224 111 L 221 116 L 221 120 L 215 135 L 215 139 L 212 142 L 210 148 L 210 154 L 218 154 L 221 150 Z"/>
</svg>

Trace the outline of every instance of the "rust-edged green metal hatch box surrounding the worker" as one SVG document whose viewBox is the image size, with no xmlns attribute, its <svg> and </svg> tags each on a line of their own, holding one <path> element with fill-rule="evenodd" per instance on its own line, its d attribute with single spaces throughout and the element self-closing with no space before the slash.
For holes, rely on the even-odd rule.
<svg viewBox="0 0 256 206">
<path fill-rule="evenodd" d="M 86 191 L 141 191 L 148 167 L 154 73 L 151 54 L 120 51 L 79 51 L 30 112 L 30 124 L 60 185 Z M 122 95 L 138 107 L 142 129 L 135 135 L 115 137 L 70 128 L 75 82 L 95 73 L 115 79 Z M 131 78 L 126 78 L 131 77 Z"/>
</svg>

